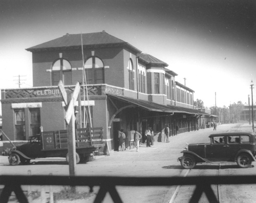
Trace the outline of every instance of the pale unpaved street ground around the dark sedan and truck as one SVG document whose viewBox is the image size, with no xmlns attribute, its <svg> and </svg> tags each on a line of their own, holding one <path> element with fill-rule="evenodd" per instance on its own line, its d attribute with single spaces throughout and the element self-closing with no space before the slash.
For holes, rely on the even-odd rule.
<svg viewBox="0 0 256 203">
<path fill-rule="evenodd" d="M 185 132 L 170 138 L 170 143 L 155 142 L 154 146 L 142 145 L 139 152 L 127 149 L 123 152 L 112 151 L 110 156 L 96 156 L 96 161 L 78 164 L 77 175 L 106 176 L 184 176 L 184 170 L 177 158 L 182 155 L 185 143 L 207 143 L 211 133 L 227 131 L 252 131 L 248 124 L 225 124 L 212 128 Z M 69 175 L 69 166 L 65 159 L 40 159 L 32 161 L 28 166 L 10 166 L 6 156 L 1 156 L 1 174 L 27 174 L 28 170 L 36 175 Z M 254 163 L 255 164 L 255 163 Z M 198 164 L 188 176 L 199 175 L 249 175 L 255 174 L 255 168 L 241 169 L 236 163 Z M 213 187 L 214 188 L 214 187 Z M 55 188 L 58 190 L 59 188 Z M 169 202 L 176 187 L 117 187 L 123 202 Z M 187 202 L 194 187 L 182 187 L 174 202 Z M 256 186 L 220 186 L 221 202 L 256 202 Z M 97 192 L 95 188 L 94 192 Z M 93 202 L 94 196 L 86 202 Z M 83 200 L 84 202 L 84 200 Z M 104 202 L 113 202 L 107 195 Z M 205 199 L 202 199 L 205 202 Z"/>
</svg>

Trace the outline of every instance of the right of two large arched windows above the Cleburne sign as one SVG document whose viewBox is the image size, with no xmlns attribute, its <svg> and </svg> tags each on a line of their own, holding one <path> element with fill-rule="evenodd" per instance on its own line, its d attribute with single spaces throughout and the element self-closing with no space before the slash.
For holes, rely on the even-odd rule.
<svg viewBox="0 0 256 203">
<path fill-rule="evenodd" d="M 104 80 L 104 64 L 96 56 L 90 57 L 84 64 L 86 69 L 87 84 L 102 84 Z"/>
</svg>

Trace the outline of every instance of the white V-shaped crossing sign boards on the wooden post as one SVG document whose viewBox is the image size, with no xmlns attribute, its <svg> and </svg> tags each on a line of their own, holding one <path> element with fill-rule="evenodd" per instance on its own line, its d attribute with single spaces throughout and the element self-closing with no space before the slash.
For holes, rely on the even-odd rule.
<svg viewBox="0 0 256 203">
<path fill-rule="evenodd" d="M 76 102 L 77 97 L 80 93 L 80 84 L 79 84 L 79 82 L 76 83 L 76 86 L 75 86 L 75 89 L 73 91 L 73 94 L 72 94 L 72 97 L 71 97 L 71 100 L 70 100 L 69 104 L 68 104 L 67 93 L 66 93 L 65 87 L 64 87 L 61 80 L 59 81 L 58 87 L 59 87 L 61 96 L 62 96 L 66 106 L 69 105 L 68 109 L 66 110 L 66 116 L 65 116 L 65 120 L 66 120 L 67 124 L 69 124 L 70 119 L 72 117 L 72 114 L 74 114 L 75 102 Z"/>
</svg>

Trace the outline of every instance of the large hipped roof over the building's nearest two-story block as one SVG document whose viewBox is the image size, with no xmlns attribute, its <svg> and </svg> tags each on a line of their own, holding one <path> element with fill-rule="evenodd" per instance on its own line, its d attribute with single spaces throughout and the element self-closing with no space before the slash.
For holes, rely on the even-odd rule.
<svg viewBox="0 0 256 203">
<path fill-rule="evenodd" d="M 108 46 L 125 46 L 136 53 L 141 53 L 140 50 L 133 47 L 128 42 L 125 42 L 117 37 L 114 37 L 104 30 L 102 32 L 86 33 L 86 34 L 66 34 L 57 39 L 38 44 L 34 47 L 26 49 L 27 51 L 35 52 L 41 50 L 53 49 L 80 49 L 81 35 L 84 48 L 88 47 L 108 47 Z"/>
</svg>

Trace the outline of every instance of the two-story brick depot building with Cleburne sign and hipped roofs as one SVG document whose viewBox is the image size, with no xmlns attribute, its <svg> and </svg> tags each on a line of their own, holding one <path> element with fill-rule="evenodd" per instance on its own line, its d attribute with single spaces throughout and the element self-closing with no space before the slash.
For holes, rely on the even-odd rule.
<svg viewBox="0 0 256 203">
<path fill-rule="evenodd" d="M 57 84 L 62 80 L 72 92 L 82 83 L 83 60 L 89 97 L 81 85 L 77 124 L 89 123 L 90 110 L 93 126 L 103 127 L 111 149 L 117 148 L 121 128 L 127 142 L 131 130 L 143 133 L 147 126 L 159 134 L 169 124 L 177 134 L 195 130 L 197 119 L 205 114 L 194 109 L 194 91 L 175 81 L 177 74 L 167 63 L 105 31 L 66 34 L 27 51 L 32 52 L 33 87 L 2 89 L 3 130 L 11 140 L 27 140 L 40 126 L 44 131 L 67 128 Z"/>
</svg>

